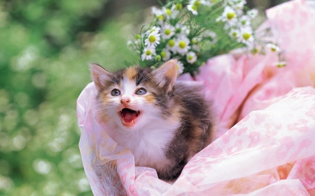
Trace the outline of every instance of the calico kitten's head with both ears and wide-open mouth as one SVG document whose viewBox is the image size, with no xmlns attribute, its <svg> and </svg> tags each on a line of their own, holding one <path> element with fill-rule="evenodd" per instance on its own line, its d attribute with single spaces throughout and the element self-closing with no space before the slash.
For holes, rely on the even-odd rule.
<svg viewBox="0 0 315 196">
<path fill-rule="evenodd" d="M 98 90 L 99 111 L 106 123 L 127 129 L 140 128 L 161 117 L 163 98 L 176 81 L 176 60 L 158 70 L 130 67 L 110 73 L 92 65 L 92 77 Z"/>
</svg>

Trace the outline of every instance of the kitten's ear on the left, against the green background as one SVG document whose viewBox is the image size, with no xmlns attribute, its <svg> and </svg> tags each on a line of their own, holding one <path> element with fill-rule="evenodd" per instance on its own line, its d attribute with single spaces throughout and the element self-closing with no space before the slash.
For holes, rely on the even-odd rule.
<svg viewBox="0 0 315 196">
<path fill-rule="evenodd" d="M 113 73 L 106 70 L 98 64 L 90 64 L 92 80 L 94 81 L 97 91 L 102 91 L 106 87 L 106 83 L 113 80 Z"/>
</svg>

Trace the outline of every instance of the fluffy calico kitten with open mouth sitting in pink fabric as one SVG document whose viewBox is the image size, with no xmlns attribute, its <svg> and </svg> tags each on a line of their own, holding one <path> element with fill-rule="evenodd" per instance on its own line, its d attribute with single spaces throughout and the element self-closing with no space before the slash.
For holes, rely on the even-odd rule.
<svg viewBox="0 0 315 196">
<path fill-rule="evenodd" d="M 177 60 L 156 70 L 133 66 L 111 73 L 91 65 L 99 116 L 108 134 L 152 167 L 160 179 L 176 179 L 197 152 L 211 142 L 213 118 L 200 89 L 176 82 Z"/>
</svg>

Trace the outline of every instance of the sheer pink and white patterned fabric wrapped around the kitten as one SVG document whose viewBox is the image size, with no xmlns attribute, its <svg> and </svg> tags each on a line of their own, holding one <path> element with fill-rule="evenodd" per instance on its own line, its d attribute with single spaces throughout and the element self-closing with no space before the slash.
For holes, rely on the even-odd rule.
<svg viewBox="0 0 315 196">
<path fill-rule="evenodd" d="M 217 140 L 170 184 L 135 167 L 128 149 L 94 118 L 96 89 L 78 98 L 80 152 L 94 195 L 315 195 L 315 12 L 306 1 L 267 10 L 267 24 L 288 61 L 276 54 L 209 59 L 189 85 L 204 85 L 218 116 Z M 194 81 L 197 80 L 197 81 Z M 312 87 L 313 86 L 313 87 Z"/>
</svg>

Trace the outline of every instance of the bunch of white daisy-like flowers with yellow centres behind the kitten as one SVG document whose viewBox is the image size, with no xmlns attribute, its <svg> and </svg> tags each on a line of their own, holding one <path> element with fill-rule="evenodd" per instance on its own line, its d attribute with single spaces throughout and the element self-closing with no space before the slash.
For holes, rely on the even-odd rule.
<svg viewBox="0 0 315 196">
<path fill-rule="evenodd" d="M 265 54 L 279 47 L 268 38 L 269 28 L 253 31 L 252 20 L 258 10 L 249 10 L 244 0 L 173 0 L 162 8 L 152 8 L 153 20 L 128 45 L 139 55 L 139 64 L 157 68 L 165 61 L 179 59 L 179 73 L 198 72 L 198 68 L 219 54 L 246 47 L 247 52 Z"/>
</svg>

